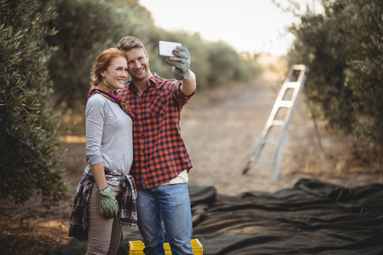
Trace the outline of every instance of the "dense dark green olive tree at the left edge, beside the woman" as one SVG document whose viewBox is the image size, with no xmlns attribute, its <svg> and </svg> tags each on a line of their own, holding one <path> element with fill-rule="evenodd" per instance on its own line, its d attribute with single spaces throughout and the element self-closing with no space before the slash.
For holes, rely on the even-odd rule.
<svg viewBox="0 0 383 255">
<path fill-rule="evenodd" d="M 0 1 L 0 197 L 15 203 L 65 196 L 45 42 L 54 17 L 41 1 Z"/>
</svg>

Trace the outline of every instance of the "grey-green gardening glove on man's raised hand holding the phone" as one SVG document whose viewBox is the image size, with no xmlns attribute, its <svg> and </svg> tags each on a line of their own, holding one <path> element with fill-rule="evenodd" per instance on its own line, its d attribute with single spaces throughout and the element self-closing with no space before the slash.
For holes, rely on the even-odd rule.
<svg viewBox="0 0 383 255">
<path fill-rule="evenodd" d="M 177 80 L 189 78 L 190 55 L 184 46 L 177 46 L 173 50 L 174 57 L 169 57 L 166 62 L 173 66 L 172 73 Z"/>
</svg>

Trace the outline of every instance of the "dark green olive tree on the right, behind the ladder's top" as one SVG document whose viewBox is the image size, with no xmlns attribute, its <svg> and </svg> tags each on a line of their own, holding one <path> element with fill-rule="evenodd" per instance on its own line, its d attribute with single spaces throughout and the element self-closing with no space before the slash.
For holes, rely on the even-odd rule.
<svg viewBox="0 0 383 255">
<path fill-rule="evenodd" d="M 310 103 L 328 130 L 383 145 L 383 1 L 323 0 L 290 31 L 289 63 L 310 68 Z"/>
</svg>

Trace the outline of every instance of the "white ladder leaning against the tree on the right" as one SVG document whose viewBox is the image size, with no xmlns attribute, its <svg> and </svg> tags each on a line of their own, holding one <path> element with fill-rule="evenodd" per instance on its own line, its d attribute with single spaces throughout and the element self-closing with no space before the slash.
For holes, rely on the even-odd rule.
<svg viewBox="0 0 383 255">
<path fill-rule="evenodd" d="M 267 119 L 265 128 L 262 130 L 260 141 L 250 155 L 248 164 L 246 164 L 242 174 L 246 174 L 253 162 L 265 162 L 274 164 L 272 179 L 277 181 L 287 131 L 289 130 L 289 124 L 292 120 L 299 95 L 304 87 L 307 72 L 309 72 L 309 69 L 304 64 L 295 64 L 289 69 L 287 77 L 277 96 L 277 100 L 272 108 L 272 112 Z M 279 130 L 279 132 L 273 130 L 273 128 L 276 127 L 279 127 L 282 130 Z M 277 135 L 277 139 L 270 138 L 272 135 L 274 135 L 274 137 Z M 272 154 L 271 159 L 261 157 L 262 149 L 264 149 L 265 145 L 274 145 L 274 153 Z"/>
</svg>

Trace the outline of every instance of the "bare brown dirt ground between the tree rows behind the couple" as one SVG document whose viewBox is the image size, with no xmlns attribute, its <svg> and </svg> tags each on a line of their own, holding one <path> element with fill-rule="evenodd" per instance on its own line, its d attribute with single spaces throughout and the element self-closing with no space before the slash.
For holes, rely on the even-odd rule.
<svg viewBox="0 0 383 255">
<path fill-rule="evenodd" d="M 284 76 L 265 72 L 245 84 L 200 90 L 184 107 L 182 136 L 194 164 L 189 184 L 214 186 L 218 193 L 274 192 L 301 178 L 319 179 L 345 187 L 383 183 L 382 159 L 374 148 L 360 150 L 349 137 L 318 132 L 309 117 L 304 94 L 294 113 L 277 181 L 273 165 L 252 164 L 242 174 L 274 105 Z M 320 144 L 321 142 L 321 144 Z M 323 149 L 321 149 L 321 146 Z M 68 199 L 55 210 L 43 210 L 38 200 L 23 206 L 1 201 L 0 254 L 44 254 L 59 251 L 67 237 L 75 188 L 86 165 L 84 137 L 67 137 L 63 146 Z"/>
</svg>

